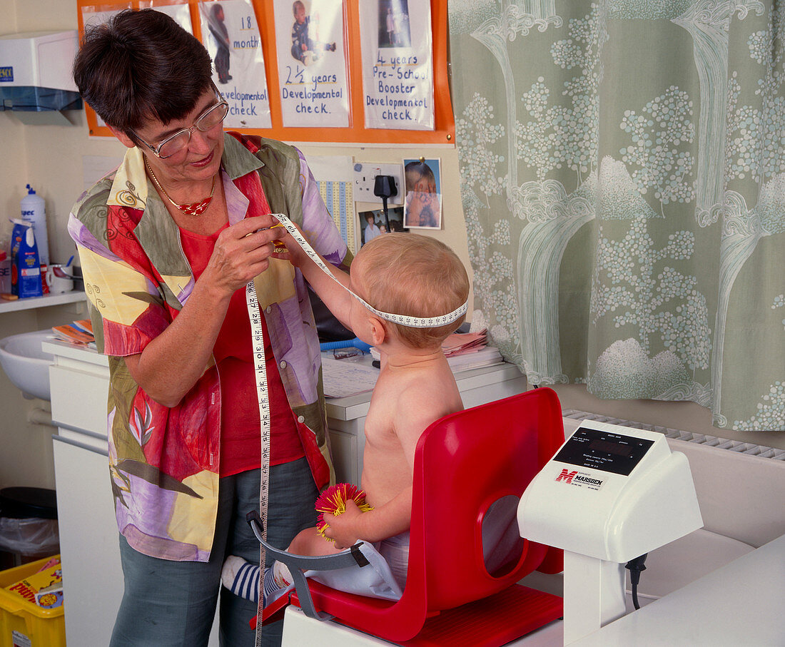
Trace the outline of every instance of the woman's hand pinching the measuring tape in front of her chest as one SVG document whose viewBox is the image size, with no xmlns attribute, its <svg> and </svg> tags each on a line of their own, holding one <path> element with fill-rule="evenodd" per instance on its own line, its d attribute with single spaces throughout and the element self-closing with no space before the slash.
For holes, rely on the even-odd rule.
<svg viewBox="0 0 785 647">
<path fill-rule="evenodd" d="M 272 241 L 279 237 L 276 229 L 270 229 L 275 223 L 270 214 L 250 216 L 221 231 L 200 280 L 206 279 L 231 296 L 265 271 L 270 264 Z"/>
</svg>

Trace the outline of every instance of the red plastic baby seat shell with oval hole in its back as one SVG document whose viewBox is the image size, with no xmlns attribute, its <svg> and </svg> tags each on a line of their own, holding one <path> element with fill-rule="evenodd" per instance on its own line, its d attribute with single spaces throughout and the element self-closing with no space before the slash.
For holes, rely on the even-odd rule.
<svg viewBox="0 0 785 647">
<path fill-rule="evenodd" d="M 517 530 L 517 500 L 563 442 L 559 399 L 548 388 L 436 420 L 414 456 L 403 596 L 387 602 L 311 582 L 314 602 L 351 627 L 405 641 L 433 612 L 503 591 L 535 569 L 560 571 L 561 551 L 519 540 L 520 557 L 491 575 L 483 557 L 483 521 L 496 500 L 509 496 Z"/>
</svg>

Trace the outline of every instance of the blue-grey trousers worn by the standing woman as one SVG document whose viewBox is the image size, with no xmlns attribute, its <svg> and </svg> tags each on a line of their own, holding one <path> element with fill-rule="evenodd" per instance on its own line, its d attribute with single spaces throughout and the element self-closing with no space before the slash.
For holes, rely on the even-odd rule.
<svg viewBox="0 0 785 647">
<path fill-rule="evenodd" d="M 259 542 L 246 523 L 258 510 L 261 471 L 221 478 L 218 517 L 209 562 L 170 562 L 134 551 L 120 536 L 125 593 L 111 636 L 111 647 L 198 647 L 207 645 L 215 605 L 221 596 L 220 639 L 226 647 L 254 645 L 249 622 L 256 603 L 221 587 L 221 567 L 228 555 L 259 562 Z M 268 541 L 286 548 L 294 536 L 316 525 L 318 496 L 305 458 L 270 469 Z M 283 622 L 265 624 L 263 645 L 280 645 Z"/>
</svg>

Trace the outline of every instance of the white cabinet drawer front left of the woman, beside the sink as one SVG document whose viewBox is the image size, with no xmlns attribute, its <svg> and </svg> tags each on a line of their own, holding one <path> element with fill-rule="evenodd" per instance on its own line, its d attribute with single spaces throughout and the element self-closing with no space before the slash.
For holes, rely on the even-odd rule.
<svg viewBox="0 0 785 647">
<path fill-rule="evenodd" d="M 107 376 L 52 365 L 49 386 L 55 423 L 106 435 Z"/>
</svg>

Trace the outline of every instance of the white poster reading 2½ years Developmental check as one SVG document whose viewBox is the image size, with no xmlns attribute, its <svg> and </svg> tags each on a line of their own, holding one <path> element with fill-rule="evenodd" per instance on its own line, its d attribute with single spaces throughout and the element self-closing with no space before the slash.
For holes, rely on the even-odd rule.
<svg viewBox="0 0 785 647">
<path fill-rule="evenodd" d="M 275 0 L 283 125 L 349 126 L 342 0 Z"/>
</svg>

